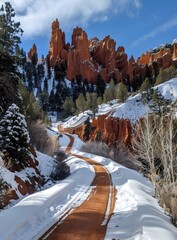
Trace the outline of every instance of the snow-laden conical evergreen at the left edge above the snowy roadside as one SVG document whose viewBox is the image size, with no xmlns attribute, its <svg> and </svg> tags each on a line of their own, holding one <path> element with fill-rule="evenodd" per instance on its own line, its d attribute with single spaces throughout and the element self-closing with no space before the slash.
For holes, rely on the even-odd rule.
<svg viewBox="0 0 177 240">
<path fill-rule="evenodd" d="M 4 152 L 5 162 L 23 166 L 28 156 L 29 142 L 25 117 L 19 107 L 12 104 L 0 121 L 0 150 Z"/>
</svg>

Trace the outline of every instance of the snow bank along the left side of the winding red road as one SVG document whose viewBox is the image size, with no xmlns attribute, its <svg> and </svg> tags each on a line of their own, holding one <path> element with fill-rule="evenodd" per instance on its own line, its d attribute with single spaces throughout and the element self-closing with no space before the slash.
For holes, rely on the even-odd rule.
<svg viewBox="0 0 177 240">
<path fill-rule="evenodd" d="M 67 137 L 62 140 L 66 147 Z M 47 172 L 51 172 L 52 160 L 45 154 L 37 154 L 40 168 L 47 176 Z M 48 158 L 48 165 L 42 165 L 42 158 Z M 67 164 L 71 169 L 68 178 L 0 212 L 0 240 L 38 239 L 59 218 L 66 217 L 68 210 L 72 211 L 89 197 L 93 188 L 90 185 L 95 176 L 93 167 L 76 157 L 69 157 Z"/>
</svg>

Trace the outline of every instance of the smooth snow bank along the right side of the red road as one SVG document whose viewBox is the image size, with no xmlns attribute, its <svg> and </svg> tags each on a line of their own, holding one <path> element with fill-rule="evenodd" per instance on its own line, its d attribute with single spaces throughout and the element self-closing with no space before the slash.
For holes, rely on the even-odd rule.
<svg viewBox="0 0 177 240">
<path fill-rule="evenodd" d="M 176 240 L 177 228 L 152 197 L 153 185 L 136 171 L 127 169 L 108 158 L 72 150 L 103 164 L 117 189 L 114 215 L 105 240 Z"/>
</svg>

